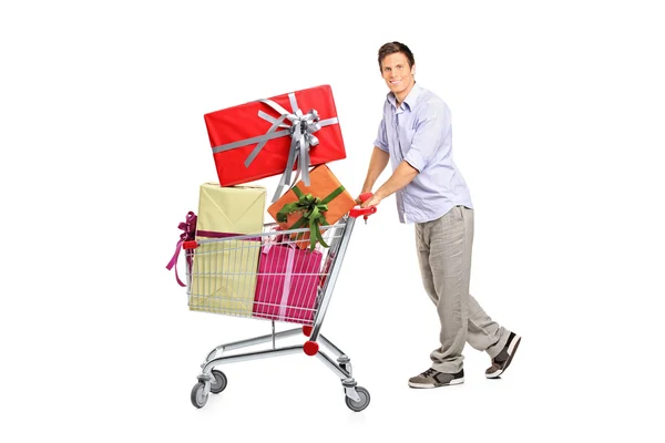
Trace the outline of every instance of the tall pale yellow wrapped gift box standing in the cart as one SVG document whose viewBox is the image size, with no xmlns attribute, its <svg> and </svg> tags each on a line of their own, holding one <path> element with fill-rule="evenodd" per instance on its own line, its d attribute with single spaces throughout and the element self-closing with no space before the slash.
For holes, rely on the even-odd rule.
<svg viewBox="0 0 665 443">
<path fill-rule="evenodd" d="M 265 204 L 263 186 L 203 184 L 196 240 L 262 233 Z M 258 236 L 200 244 L 192 267 L 190 309 L 250 316 L 259 254 Z"/>
</svg>

